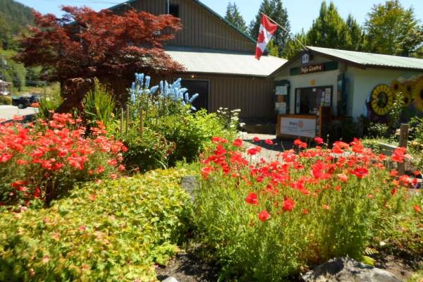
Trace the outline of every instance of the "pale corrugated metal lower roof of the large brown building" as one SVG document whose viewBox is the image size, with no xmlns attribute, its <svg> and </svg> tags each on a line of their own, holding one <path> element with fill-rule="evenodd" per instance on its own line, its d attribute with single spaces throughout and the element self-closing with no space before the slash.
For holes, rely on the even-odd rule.
<svg viewBox="0 0 423 282">
<path fill-rule="evenodd" d="M 287 62 L 274 56 L 262 56 L 258 61 L 252 53 L 235 51 L 174 46 L 165 46 L 164 49 L 174 61 L 185 66 L 188 73 L 267 77 Z"/>
</svg>

